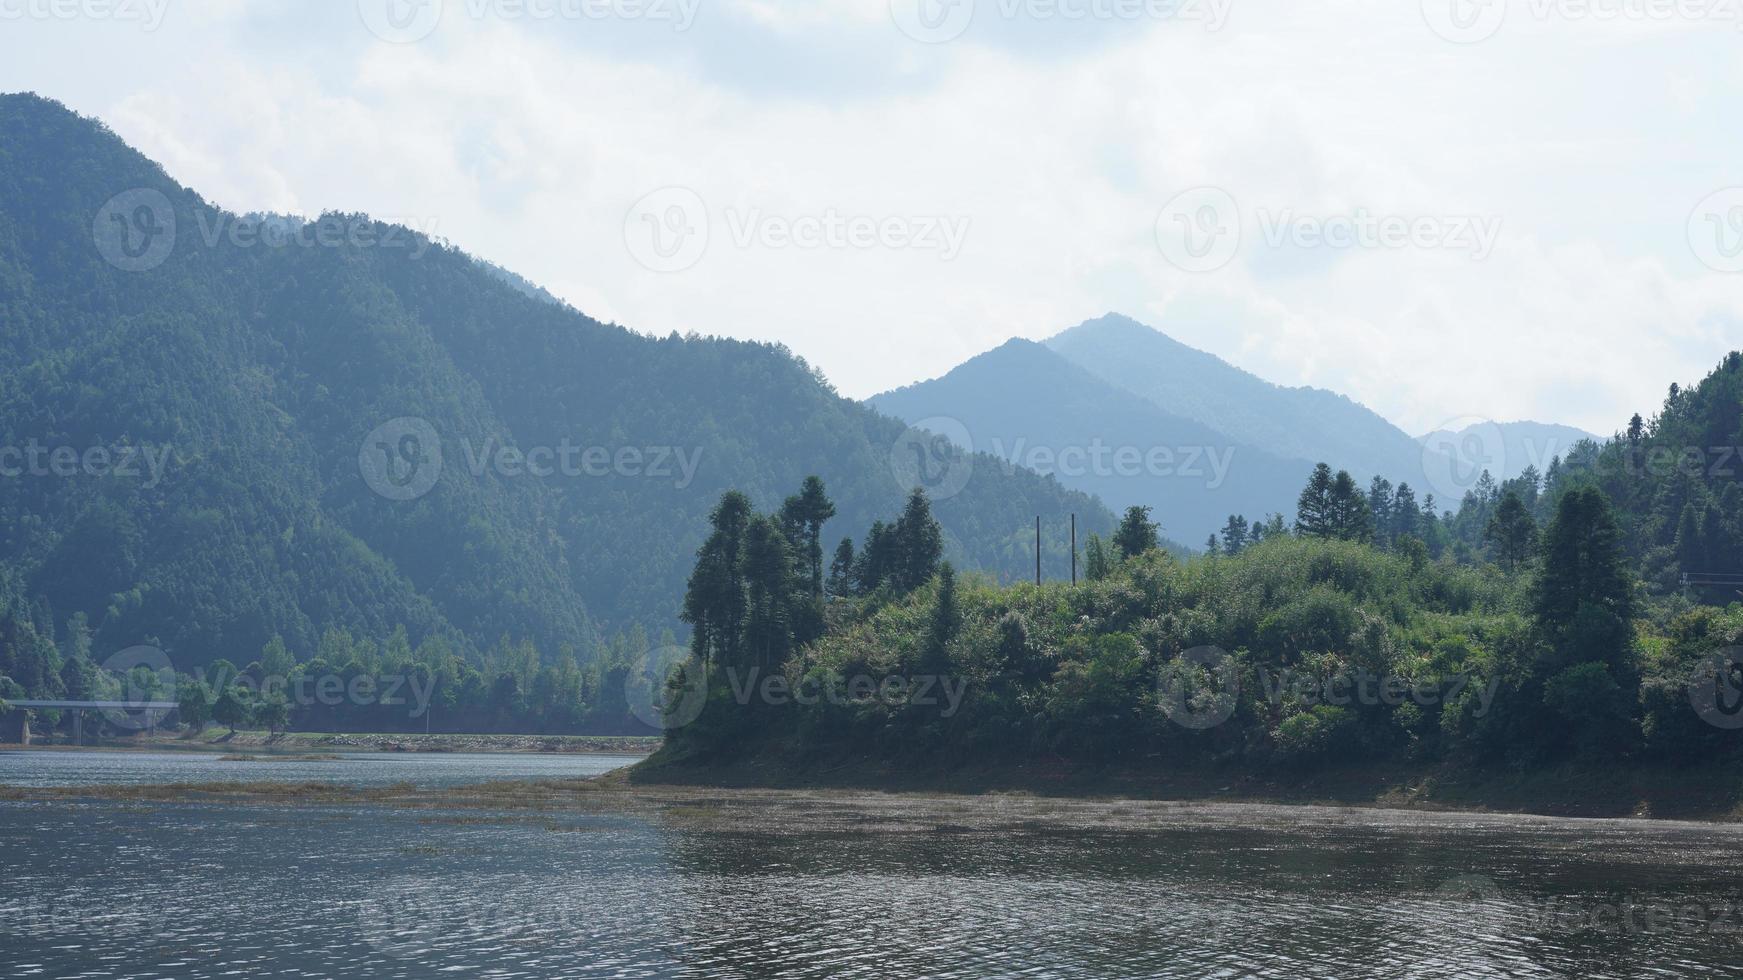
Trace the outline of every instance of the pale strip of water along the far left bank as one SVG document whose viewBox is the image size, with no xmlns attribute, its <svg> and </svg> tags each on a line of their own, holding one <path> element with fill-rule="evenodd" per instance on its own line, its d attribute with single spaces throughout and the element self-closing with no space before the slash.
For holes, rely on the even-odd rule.
<svg viewBox="0 0 1743 980">
<path fill-rule="evenodd" d="M 209 752 L 0 752 L 0 786 L 160 783 L 345 783 L 464 786 L 490 779 L 577 779 L 638 762 L 608 753 L 347 752 L 333 759 L 227 760 Z"/>
</svg>

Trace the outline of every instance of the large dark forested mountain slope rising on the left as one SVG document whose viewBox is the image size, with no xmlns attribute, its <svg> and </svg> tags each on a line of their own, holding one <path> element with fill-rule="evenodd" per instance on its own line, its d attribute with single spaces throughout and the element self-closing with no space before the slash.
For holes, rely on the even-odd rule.
<svg viewBox="0 0 1743 980">
<path fill-rule="evenodd" d="M 84 614 L 98 652 L 157 643 L 178 668 L 401 624 L 586 657 L 676 624 L 722 490 L 774 507 L 814 473 L 854 530 L 910 490 L 905 425 L 786 349 L 636 335 L 361 214 L 268 225 L 0 96 L 9 630 Z M 1112 527 L 990 464 L 936 499 L 946 555 L 1006 577 L 1032 574 L 1037 514 L 1063 574 L 1068 513 Z"/>
</svg>

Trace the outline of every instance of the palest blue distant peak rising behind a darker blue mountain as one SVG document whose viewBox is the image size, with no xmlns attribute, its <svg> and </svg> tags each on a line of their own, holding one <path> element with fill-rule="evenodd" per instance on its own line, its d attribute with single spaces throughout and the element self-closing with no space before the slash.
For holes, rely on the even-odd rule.
<svg viewBox="0 0 1743 980">
<path fill-rule="evenodd" d="M 1117 314 L 1046 344 L 1103 382 L 1234 443 L 1281 459 L 1326 460 L 1361 481 L 1384 476 L 1421 483 L 1422 445 L 1337 392 L 1274 385 Z"/>
</svg>

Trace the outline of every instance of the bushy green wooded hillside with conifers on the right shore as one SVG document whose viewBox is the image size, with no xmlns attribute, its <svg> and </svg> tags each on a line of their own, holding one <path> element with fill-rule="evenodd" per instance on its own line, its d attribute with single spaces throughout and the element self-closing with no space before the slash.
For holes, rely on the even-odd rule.
<svg viewBox="0 0 1743 980">
<path fill-rule="evenodd" d="M 1222 548 L 1185 561 L 1135 513 L 1114 555 L 1093 542 L 1081 584 L 960 588 L 945 565 L 844 593 L 784 661 L 751 656 L 749 630 L 699 649 L 727 680 L 702 671 L 697 722 L 645 771 L 943 783 L 1009 766 L 1002 779 L 1035 785 L 1084 766 L 1175 792 L 1168 774 L 1293 779 L 1351 762 L 1434 767 L 1426 781 L 1734 766 L 1740 455 L 1733 352 L 1609 443 L 1482 473 L 1457 513 L 1319 464 L 1293 527 L 1231 521 Z M 760 671 L 805 696 L 732 696 Z M 885 677 L 912 684 L 882 694 Z"/>
</svg>

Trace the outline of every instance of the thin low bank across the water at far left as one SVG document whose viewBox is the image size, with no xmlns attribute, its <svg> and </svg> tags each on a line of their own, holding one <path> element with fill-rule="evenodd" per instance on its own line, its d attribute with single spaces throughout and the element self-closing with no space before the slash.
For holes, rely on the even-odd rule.
<svg viewBox="0 0 1743 980">
<path fill-rule="evenodd" d="M 331 752 L 451 752 L 451 753 L 612 753 L 647 755 L 662 739 L 640 736 L 525 736 L 525 734 L 370 734 L 370 732 L 256 732 L 207 729 L 199 734 L 138 734 L 132 738 L 85 739 L 84 746 L 31 741 L 31 750 L 51 752 L 225 752 L 225 753 L 331 753 Z M 24 748 L 3 745 L 0 748 Z"/>
</svg>

